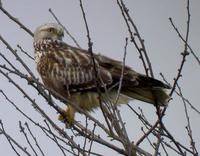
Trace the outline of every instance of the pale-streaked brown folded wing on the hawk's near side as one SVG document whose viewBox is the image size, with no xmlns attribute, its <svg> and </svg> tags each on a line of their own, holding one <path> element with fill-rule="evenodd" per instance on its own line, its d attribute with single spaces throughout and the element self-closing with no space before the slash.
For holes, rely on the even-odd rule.
<svg viewBox="0 0 200 156">
<path fill-rule="evenodd" d="M 38 71 L 46 86 L 60 94 L 66 90 L 77 92 L 96 88 L 92 59 L 88 53 L 58 41 L 45 41 L 45 45 L 40 44 L 45 53 L 38 62 Z M 110 72 L 99 66 L 97 60 L 95 63 L 102 85 L 111 84 Z"/>
</svg>

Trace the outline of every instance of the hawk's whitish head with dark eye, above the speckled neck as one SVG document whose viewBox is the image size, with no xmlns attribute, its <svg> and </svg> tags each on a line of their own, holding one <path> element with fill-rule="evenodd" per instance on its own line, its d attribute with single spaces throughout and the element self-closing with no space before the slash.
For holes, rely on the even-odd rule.
<svg viewBox="0 0 200 156">
<path fill-rule="evenodd" d="M 63 27 L 56 23 L 47 23 L 36 28 L 34 32 L 34 41 L 51 39 L 62 40 L 64 36 Z"/>
</svg>

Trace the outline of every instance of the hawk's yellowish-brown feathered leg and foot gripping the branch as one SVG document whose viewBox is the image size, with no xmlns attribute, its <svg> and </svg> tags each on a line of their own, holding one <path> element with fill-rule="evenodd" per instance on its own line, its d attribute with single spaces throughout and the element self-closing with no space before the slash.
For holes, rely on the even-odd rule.
<svg viewBox="0 0 200 156">
<path fill-rule="evenodd" d="M 74 123 L 75 109 L 72 106 L 68 106 L 63 113 L 58 116 L 58 120 L 65 123 L 66 128 L 70 128 Z"/>
</svg>

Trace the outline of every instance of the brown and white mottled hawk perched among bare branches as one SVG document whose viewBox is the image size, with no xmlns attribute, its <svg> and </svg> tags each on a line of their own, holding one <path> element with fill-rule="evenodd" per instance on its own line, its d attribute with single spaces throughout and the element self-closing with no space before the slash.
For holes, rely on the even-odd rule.
<svg viewBox="0 0 200 156">
<path fill-rule="evenodd" d="M 128 103 L 132 99 L 159 106 L 167 104 L 169 96 L 165 89 L 169 89 L 168 85 L 128 66 L 123 67 L 122 62 L 112 58 L 94 54 L 92 59 L 87 50 L 63 42 L 63 37 L 63 27 L 55 23 L 41 25 L 34 32 L 37 70 L 44 85 L 53 92 L 85 111 L 92 111 L 99 106 L 96 78 L 103 101 L 108 100 L 105 95 L 115 101 L 124 68 L 118 104 Z M 75 112 L 76 108 L 69 105 L 65 118 L 60 116 L 59 119 L 73 124 Z"/>
</svg>

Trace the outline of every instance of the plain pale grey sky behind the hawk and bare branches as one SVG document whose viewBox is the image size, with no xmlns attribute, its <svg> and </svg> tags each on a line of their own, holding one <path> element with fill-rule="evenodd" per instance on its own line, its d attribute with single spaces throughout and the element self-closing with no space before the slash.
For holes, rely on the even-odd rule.
<svg viewBox="0 0 200 156">
<path fill-rule="evenodd" d="M 184 44 L 178 38 L 174 29 L 170 25 L 169 17 L 172 17 L 174 23 L 182 34 L 185 35 L 186 30 L 186 1 L 183 0 L 126 0 L 127 7 L 130 14 L 135 21 L 141 36 L 145 40 L 147 52 L 150 56 L 153 66 L 154 74 L 157 79 L 162 79 L 159 75 L 162 72 L 166 79 L 172 84 L 173 78 L 177 74 L 177 68 L 180 65 L 181 55 L 183 52 Z M 194 52 L 200 57 L 199 51 L 199 35 L 200 35 L 200 1 L 191 0 L 191 25 L 189 44 Z M 82 48 L 87 49 L 87 37 L 84 21 L 82 18 L 79 0 L 4 0 L 3 6 L 12 15 L 17 17 L 24 25 L 30 28 L 32 31 L 35 28 L 46 22 L 55 22 L 48 9 L 51 8 L 62 24 L 70 31 L 70 33 L 77 39 Z M 93 44 L 93 50 L 97 53 L 113 57 L 118 60 L 122 60 L 125 37 L 129 36 L 127 28 L 121 16 L 121 12 L 115 1 L 112 0 L 85 0 L 84 7 L 87 15 L 87 20 L 90 28 L 91 38 Z M 13 46 L 20 44 L 24 50 L 28 51 L 33 56 L 32 37 L 20 29 L 14 22 L 8 19 L 2 12 L 0 12 L 0 34 Z M 69 44 L 73 44 L 70 38 L 66 35 L 64 41 Z M 10 55 L 5 46 L 0 43 L 0 51 L 4 53 L 8 58 L 13 59 L 14 64 L 16 61 L 13 56 Z M 129 43 L 127 51 L 126 64 L 134 68 L 136 71 L 144 73 L 144 69 L 141 60 L 138 58 L 138 52 L 134 48 L 133 44 Z M 24 56 L 23 56 L 24 57 Z M 38 76 L 36 71 L 36 65 L 33 61 L 30 61 L 27 57 L 24 57 L 25 62 L 29 64 L 32 71 Z M 0 61 L 2 59 L 0 58 Z M 15 64 L 18 66 L 18 64 Z M 21 68 L 21 67 L 19 67 Z M 22 68 L 21 68 L 22 69 Z M 183 77 L 179 81 L 185 98 L 188 98 L 190 102 L 200 110 L 199 105 L 199 78 L 200 69 L 196 60 L 192 55 L 187 57 L 187 61 L 183 70 Z M 39 77 L 39 76 L 38 76 Z M 27 87 L 26 82 L 18 79 L 20 85 L 27 90 L 32 97 L 38 97 L 37 93 L 31 88 Z M 36 121 L 42 123 L 42 118 L 35 112 L 32 106 L 26 103 L 26 100 L 21 94 L 17 92 L 2 75 L 0 75 L 0 89 L 3 89 L 9 98 L 16 102 L 16 104 L 24 110 Z M 40 101 L 41 107 L 51 114 L 53 119 L 57 120 L 57 115 L 54 110 L 46 106 L 45 101 Z M 150 121 L 156 120 L 155 108 L 143 102 L 133 101 L 131 103 L 134 108 L 137 109 L 140 106 Z M 7 132 L 14 136 L 16 140 L 24 140 L 18 129 L 18 122 L 27 121 L 19 114 L 13 106 L 8 104 L 2 95 L 0 95 L 0 119 L 3 121 Z M 123 119 L 127 122 L 126 126 L 130 134 L 130 138 L 137 140 L 141 136 L 140 123 L 136 121 L 134 114 L 128 109 L 127 106 L 120 107 Z M 92 113 L 96 118 L 103 117 L 100 111 Z M 191 126 L 193 130 L 194 140 L 196 141 L 197 149 L 200 149 L 200 116 L 193 110 L 189 110 Z M 134 118 L 130 118 L 133 116 Z M 83 116 L 77 115 L 77 119 L 84 121 Z M 188 146 L 189 140 L 186 137 L 187 132 L 184 128 L 186 126 L 186 119 L 184 115 L 184 107 L 181 99 L 177 96 L 173 97 L 173 101 L 170 102 L 169 108 L 166 111 L 164 122 L 169 131 L 176 137 L 176 139 Z M 64 127 L 62 123 L 58 124 Z M 34 127 L 32 125 L 32 127 Z M 36 129 L 37 134 L 41 134 L 41 131 Z M 40 144 L 43 147 L 46 155 L 60 155 L 56 153 L 51 146 L 53 143 L 49 140 L 45 140 L 44 135 L 40 135 Z M 25 144 L 25 143 L 24 143 Z M 148 144 L 148 143 L 147 143 Z M 149 146 L 143 144 L 142 147 L 148 151 Z M 96 145 L 95 145 L 96 146 Z M 106 150 L 101 146 L 97 146 L 97 151 L 101 151 L 104 155 L 109 155 Z M 151 151 L 149 151 L 151 152 Z M 199 151 L 200 152 L 200 151 Z M 15 155 L 10 148 L 6 139 L 0 135 L 0 153 L 1 155 Z M 115 153 L 115 155 L 117 155 Z"/>
</svg>

